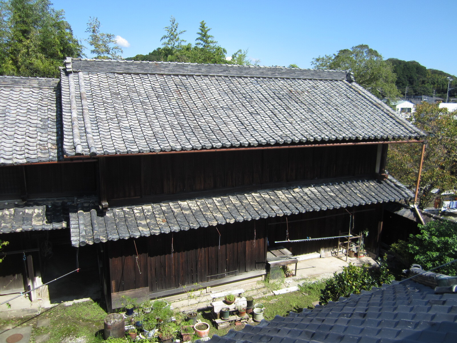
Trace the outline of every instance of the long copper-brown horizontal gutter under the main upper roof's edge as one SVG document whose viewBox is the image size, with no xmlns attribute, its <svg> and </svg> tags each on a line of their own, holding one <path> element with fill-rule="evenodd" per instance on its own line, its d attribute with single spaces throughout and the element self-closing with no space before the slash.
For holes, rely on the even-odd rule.
<svg viewBox="0 0 457 343">
<path fill-rule="evenodd" d="M 265 149 L 287 149 L 287 148 L 311 148 L 325 146 L 352 146 L 352 145 L 377 145 L 377 144 L 393 144 L 393 143 L 423 143 L 423 140 L 394 140 L 382 142 L 352 142 L 352 143 L 331 143 L 331 144 L 308 144 L 308 145 L 275 145 L 275 146 L 255 146 L 248 148 L 219 148 L 219 149 L 201 149 L 201 150 L 180 150 L 180 151 L 159 151 L 159 152 L 140 152 L 135 154 L 112 154 L 112 155 L 78 155 L 65 156 L 69 158 L 94 158 L 94 157 L 112 157 L 112 156 L 143 156 L 143 155 L 162 155 L 162 154 L 183 154 L 186 152 L 216 152 L 216 151 L 243 151 L 243 150 L 265 150 Z"/>
</svg>

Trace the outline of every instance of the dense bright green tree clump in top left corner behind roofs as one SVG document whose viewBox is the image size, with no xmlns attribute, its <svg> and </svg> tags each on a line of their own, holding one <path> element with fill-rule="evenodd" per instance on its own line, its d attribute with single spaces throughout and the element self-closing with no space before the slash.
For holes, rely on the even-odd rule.
<svg viewBox="0 0 457 343">
<path fill-rule="evenodd" d="M 65 57 L 82 57 L 84 48 L 48 0 L 0 3 L 0 74 L 58 77 Z"/>
</svg>

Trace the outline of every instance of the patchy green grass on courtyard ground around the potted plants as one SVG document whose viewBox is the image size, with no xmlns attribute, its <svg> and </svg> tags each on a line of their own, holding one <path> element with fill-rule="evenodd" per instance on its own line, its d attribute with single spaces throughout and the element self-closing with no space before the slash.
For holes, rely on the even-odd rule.
<svg viewBox="0 0 457 343">
<path fill-rule="evenodd" d="M 265 285 L 267 290 L 281 288 L 278 284 L 265 283 Z M 303 308 L 312 308 L 312 303 L 319 300 L 320 290 L 324 286 L 325 280 L 304 282 L 296 292 L 261 297 L 255 299 L 255 303 L 262 303 L 265 306 L 264 318 L 271 320 L 276 315 L 287 316 L 290 311 L 301 312 Z M 48 332 L 51 333 L 48 343 L 102 343 L 103 319 L 105 316 L 106 312 L 96 302 L 85 301 L 70 306 L 60 304 L 43 311 L 37 316 L 0 320 L 0 327 L 7 325 L 10 325 L 10 327 L 32 326 L 31 343 L 35 342 L 37 335 Z M 37 321 L 45 318 L 51 319 L 50 326 L 37 327 Z M 210 311 L 202 311 L 198 314 L 198 319 L 202 322 L 210 323 L 209 336 L 213 336 L 213 334 L 223 336 L 230 329 L 241 330 L 244 327 L 232 325 L 228 328 L 217 330 L 211 324 L 210 318 Z M 252 323 L 251 325 L 257 325 L 257 323 Z M 84 340 L 81 338 L 84 338 Z M 130 342 L 129 339 L 119 339 L 118 341 L 112 341 L 112 343 Z"/>
</svg>

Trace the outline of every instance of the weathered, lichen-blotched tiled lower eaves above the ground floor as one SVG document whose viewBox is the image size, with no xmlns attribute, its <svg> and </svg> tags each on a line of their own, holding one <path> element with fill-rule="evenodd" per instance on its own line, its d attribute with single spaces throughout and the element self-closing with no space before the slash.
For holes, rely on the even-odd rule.
<svg viewBox="0 0 457 343">
<path fill-rule="evenodd" d="M 66 215 L 69 218 L 72 244 L 79 246 L 235 221 L 401 201 L 412 197 L 413 194 L 408 189 L 393 179 L 353 180 L 110 208 L 106 213 L 98 211 L 96 202 L 82 201 L 69 204 Z M 49 219 L 60 218 L 58 215 L 43 214 L 34 217 L 37 212 L 52 213 L 52 205 L 44 209 L 43 204 L 7 207 L 0 210 L 0 233 L 54 228 L 54 223 L 49 222 Z M 63 206 L 60 208 L 64 209 Z M 35 225 L 30 225 L 31 216 L 41 218 L 46 225 L 40 227 L 39 220 L 36 220 Z M 21 223 L 25 226 L 21 227 Z M 57 221 L 55 225 L 61 224 Z"/>
</svg>

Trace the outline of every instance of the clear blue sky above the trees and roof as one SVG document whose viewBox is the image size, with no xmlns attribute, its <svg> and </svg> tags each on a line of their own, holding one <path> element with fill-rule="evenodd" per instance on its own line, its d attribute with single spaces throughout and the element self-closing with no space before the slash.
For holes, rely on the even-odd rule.
<svg viewBox="0 0 457 343">
<path fill-rule="evenodd" d="M 384 58 L 416 60 L 427 68 L 457 75 L 457 0 L 398 1 L 144 1 L 54 0 L 75 35 L 85 33 L 89 16 L 101 31 L 130 44 L 123 57 L 148 54 L 160 46 L 163 27 L 175 16 L 182 38 L 194 43 L 205 20 L 228 55 L 249 48 L 262 65 L 298 64 L 343 48 L 368 44 Z M 87 45 L 87 44 L 86 44 Z M 89 50 L 86 51 L 88 57 Z"/>
</svg>

